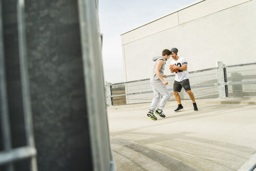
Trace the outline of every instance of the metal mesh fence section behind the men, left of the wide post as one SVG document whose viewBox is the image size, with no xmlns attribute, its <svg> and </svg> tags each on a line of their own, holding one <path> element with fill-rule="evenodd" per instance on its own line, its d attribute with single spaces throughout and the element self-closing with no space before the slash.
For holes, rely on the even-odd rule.
<svg viewBox="0 0 256 171">
<path fill-rule="evenodd" d="M 210 68 L 189 72 L 190 86 L 197 98 L 218 96 L 216 69 Z M 166 80 L 168 81 L 167 89 L 170 92 L 169 100 L 175 100 L 173 94 L 175 75 L 167 76 Z M 184 89 L 179 94 L 181 99 L 189 99 Z M 154 96 L 150 79 L 112 84 L 111 95 L 112 105 L 151 102 Z"/>
</svg>

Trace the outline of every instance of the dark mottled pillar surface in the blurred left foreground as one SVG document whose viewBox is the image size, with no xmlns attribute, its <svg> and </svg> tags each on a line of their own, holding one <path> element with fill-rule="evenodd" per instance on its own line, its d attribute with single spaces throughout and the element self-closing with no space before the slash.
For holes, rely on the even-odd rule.
<svg viewBox="0 0 256 171">
<path fill-rule="evenodd" d="M 39 171 L 92 170 L 77 1 L 26 0 L 25 9 Z"/>
</svg>

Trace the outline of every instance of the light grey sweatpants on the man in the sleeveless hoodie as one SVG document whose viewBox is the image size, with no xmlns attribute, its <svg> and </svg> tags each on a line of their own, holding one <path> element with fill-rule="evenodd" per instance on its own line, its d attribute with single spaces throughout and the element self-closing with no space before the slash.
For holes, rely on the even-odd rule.
<svg viewBox="0 0 256 171">
<path fill-rule="evenodd" d="M 170 93 L 168 92 L 167 87 L 164 85 L 162 81 L 157 83 L 150 83 L 150 84 L 154 92 L 154 98 L 151 102 L 150 111 L 152 112 L 155 111 L 155 108 L 160 101 L 161 95 L 162 95 L 162 99 L 158 108 L 162 111 L 164 109 L 164 106 L 167 100 L 170 97 Z"/>
</svg>

